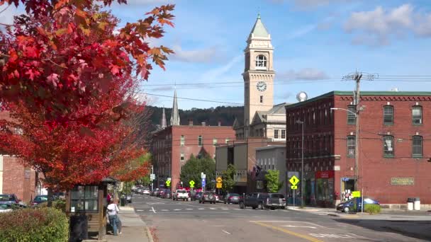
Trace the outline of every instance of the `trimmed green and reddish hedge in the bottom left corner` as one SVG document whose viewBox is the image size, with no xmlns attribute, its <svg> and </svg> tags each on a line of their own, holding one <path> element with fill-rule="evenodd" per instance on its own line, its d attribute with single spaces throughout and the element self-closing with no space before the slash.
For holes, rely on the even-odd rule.
<svg viewBox="0 0 431 242">
<path fill-rule="evenodd" d="M 0 214 L 0 241 L 63 242 L 69 239 L 69 220 L 59 209 L 27 208 Z"/>
</svg>

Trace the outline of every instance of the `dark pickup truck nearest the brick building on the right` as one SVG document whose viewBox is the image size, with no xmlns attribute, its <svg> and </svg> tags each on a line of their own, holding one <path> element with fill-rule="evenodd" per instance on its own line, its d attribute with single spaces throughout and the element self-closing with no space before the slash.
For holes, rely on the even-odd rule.
<svg viewBox="0 0 431 242">
<path fill-rule="evenodd" d="M 240 197 L 240 209 L 252 207 L 252 209 L 284 209 L 286 198 L 279 193 L 254 192 Z"/>
</svg>

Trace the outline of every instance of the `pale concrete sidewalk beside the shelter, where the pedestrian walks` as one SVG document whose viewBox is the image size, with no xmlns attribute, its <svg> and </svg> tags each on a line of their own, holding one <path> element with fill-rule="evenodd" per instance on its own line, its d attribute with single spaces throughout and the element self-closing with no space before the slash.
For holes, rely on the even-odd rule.
<svg viewBox="0 0 431 242">
<path fill-rule="evenodd" d="M 147 236 L 147 225 L 140 219 L 138 214 L 135 213 L 133 207 L 120 207 L 118 216 L 123 224 L 122 234 L 113 236 L 113 234 L 111 234 L 112 231 L 108 231 L 108 234 L 106 234 L 106 241 L 152 242 L 152 238 L 148 238 Z"/>
</svg>

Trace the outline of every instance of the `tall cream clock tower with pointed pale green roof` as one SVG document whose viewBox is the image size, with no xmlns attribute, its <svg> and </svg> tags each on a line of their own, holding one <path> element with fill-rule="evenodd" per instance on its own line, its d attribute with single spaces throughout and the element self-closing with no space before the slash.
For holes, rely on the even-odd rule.
<svg viewBox="0 0 431 242">
<path fill-rule="evenodd" d="M 244 79 L 244 127 L 248 137 L 249 126 L 256 111 L 270 110 L 274 105 L 274 48 L 271 35 L 263 25 L 260 14 L 247 39 Z"/>
</svg>

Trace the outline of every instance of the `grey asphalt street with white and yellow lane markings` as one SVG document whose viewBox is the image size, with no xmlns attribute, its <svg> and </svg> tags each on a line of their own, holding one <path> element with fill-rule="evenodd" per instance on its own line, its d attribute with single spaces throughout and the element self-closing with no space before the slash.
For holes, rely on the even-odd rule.
<svg viewBox="0 0 431 242">
<path fill-rule="evenodd" d="M 239 209 L 237 204 L 199 204 L 146 195 L 134 195 L 133 207 L 150 226 L 154 240 L 161 242 L 430 240 L 426 235 L 392 229 L 387 225 L 391 221 L 359 220 L 356 215 L 331 217 L 321 212 Z M 423 226 L 427 231 L 430 221 L 410 221 L 409 226 Z"/>
</svg>

